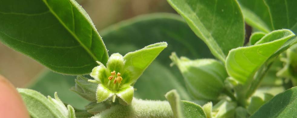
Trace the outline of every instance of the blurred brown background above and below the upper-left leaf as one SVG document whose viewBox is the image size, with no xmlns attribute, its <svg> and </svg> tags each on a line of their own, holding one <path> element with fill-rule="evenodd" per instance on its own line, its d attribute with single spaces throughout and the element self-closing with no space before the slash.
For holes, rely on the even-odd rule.
<svg viewBox="0 0 297 118">
<path fill-rule="evenodd" d="M 87 11 L 97 30 L 141 14 L 156 12 L 176 13 L 166 0 L 77 0 Z M 103 37 L 104 40 L 104 37 Z M 23 88 L 34 82 L 45 71 L 35 60 L 0 43 L 0 75 L 15 87 Z"/>
</svg>

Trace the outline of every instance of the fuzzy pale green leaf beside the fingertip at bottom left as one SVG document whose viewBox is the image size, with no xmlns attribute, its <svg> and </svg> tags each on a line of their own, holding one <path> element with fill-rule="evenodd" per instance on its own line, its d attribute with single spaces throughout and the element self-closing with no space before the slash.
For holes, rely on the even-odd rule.
<svg viewBox="0 0 297 118">
<path fill-rule="evenodd" d="M 18 88 L 29 114 L 34 118 L 75 118 L 74 109 L 67 109 L 55 93 L 55 99 L 48 99 L 37 91 Z M 68 113 L 70 111 L 70 113 Z M 68 116 L 70 114 L 70 116 Z"/>
</svg>

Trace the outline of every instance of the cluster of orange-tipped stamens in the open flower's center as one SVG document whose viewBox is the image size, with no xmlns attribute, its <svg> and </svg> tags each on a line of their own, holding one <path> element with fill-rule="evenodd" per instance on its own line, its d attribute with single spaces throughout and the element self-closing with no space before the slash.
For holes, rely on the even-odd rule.
<svg viewBox="0 0 297 118">
<path fill-rule="evenodd" d="M 121 74 L 119 72 L 117 73 L 117 75 L 116 75 L 115 71 L 111 72 L 111 76 L 108 77 L 109 81 L 107 83 L 107 87 L 112 88 L 112 90 L 117 90 L 117 88 L 120 87 L 120 84 L 122 83 L 122 80 L 123 80 L 123 78 L 120 75 Z M 110 83 L 111 83 L 113 78 L 114 78 L 114 80 L 113 80 L 114 84 L 111 85 Z"/>
</svg>

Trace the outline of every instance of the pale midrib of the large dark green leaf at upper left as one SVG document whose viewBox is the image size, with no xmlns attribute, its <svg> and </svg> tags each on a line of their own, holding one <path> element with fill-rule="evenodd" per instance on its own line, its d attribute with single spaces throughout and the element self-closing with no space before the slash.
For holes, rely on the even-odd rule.
<svg viewBox="0 0 297 118">
<path fill-rule="evenodd" d="M 46 0 L 42 0 L 45 5 L 48 7 L 49 11 L 57 18 L 57 20 L 64 26 L 64 28 L 74 37 L 74 39 L 87 51 L 87 53 L 94 59 L 94 61 L 98 61 L 98 58 L 91 52 L 91 50 L 89 50 L 87 48 L 87 46 L 85 46 L 81 41 L 80 39 L 75 35 L 75 33 L 73 33 L 65 24 L 64 22 L 58 17 L 58 15 L 51 9 L 51 7 L 48 5 L 48 2 Z M 72 4 L 72 3 L 70 3 Z M 71 7 L 73 7 L 71 5 Z M 73 8 L 72 8 L 73 10 Z M 73 12 L 73 11 L 72 11 Z M 74 14 L 73 14 L 74 15 Z M 74 18 L 73 18 L 74 19 Z M 75 26 L 73 26 L 75 27 Z M 92 30 L 94 30 L 92 28 Z"/>
</svg>

